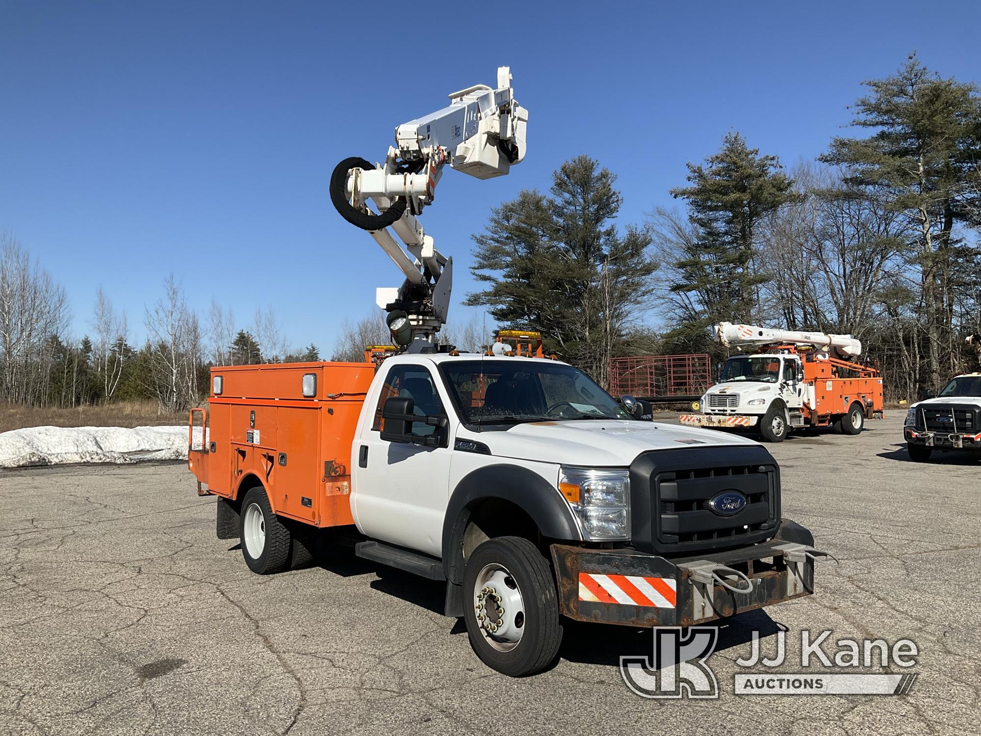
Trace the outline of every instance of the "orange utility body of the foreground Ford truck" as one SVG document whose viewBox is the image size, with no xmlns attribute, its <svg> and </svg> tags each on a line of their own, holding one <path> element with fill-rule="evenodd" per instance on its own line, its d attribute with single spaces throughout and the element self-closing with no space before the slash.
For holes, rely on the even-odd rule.
<svg viewBox="0 0 981 736">
<path fill-rule="evenodd" d="M 208 407 L 190 413 L 187 466 L 198 495 L 238 499 L 254 477 L 277 515 L 322 528 L 353 524 L 351 446 L 376 369 L 374 362 L 212 368 Z M 310 375 L 315 392 L 304 396 Z"/>
</svg>

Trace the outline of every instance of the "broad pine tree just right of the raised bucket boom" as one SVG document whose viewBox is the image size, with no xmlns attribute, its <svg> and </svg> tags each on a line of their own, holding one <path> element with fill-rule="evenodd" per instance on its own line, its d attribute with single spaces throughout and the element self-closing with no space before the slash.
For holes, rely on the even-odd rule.
<svg viewBox="0 0 981 736">
<path fill-rule="evenodd" d="M 609 357 L 650 293 L 650 236 L 613 224 L 616 176 L 589 156 L 552 173 L 550 196 L 523 191 L 474 236 L 471 305 L 499 323 L 542 332 L 545 347 L 606 382 Z"/>
</svg>

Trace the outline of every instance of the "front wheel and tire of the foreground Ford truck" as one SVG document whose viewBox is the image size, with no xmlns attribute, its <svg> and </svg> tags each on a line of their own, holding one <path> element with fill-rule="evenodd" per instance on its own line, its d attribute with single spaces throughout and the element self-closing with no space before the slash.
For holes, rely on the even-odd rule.
<svg viewBox="0 0 981 736">
<path fill-rule="evenodd" d="M 481 544 L 463 572 L 470 646 L 491 669 L 521 677 L 544 669 L 558 655 L 562 626 L 551 569 L 538 548 L 521 537 Z"/>
</svg>

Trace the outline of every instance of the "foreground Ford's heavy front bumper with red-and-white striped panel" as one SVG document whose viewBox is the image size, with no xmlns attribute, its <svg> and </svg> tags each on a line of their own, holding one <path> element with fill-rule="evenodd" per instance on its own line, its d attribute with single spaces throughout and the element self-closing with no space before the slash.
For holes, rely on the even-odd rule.
<svg viewBox="0 0 981 736">
<path fill-rule="evenodd" d="M 812 544 L 806 529 L 785 520 L 769 542 L 683 558 L 552 545 L 559 611 L 578 621 L 691 626 L 779 604 L 814 592 L 814 555 L 823 552 Z M 706 574 L 713 567 L 718 575 Z"/>
</svg>

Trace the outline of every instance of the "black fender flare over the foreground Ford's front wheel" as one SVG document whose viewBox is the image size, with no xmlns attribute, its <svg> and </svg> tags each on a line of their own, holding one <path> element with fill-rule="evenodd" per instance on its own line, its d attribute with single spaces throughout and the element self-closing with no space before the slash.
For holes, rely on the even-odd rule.
<svg viewBox="0 0 981 736">
<path fill-rule="evenodd" d="M 569 504 L 541 475 L 510 463 L 485 465 L 460 479 L 446 505 L 442 522 L 442 569 L 451 583 L 463 582 L 460 548 L 463 533 L 470 522 L 470 509 L 485 499 L 514 503 L 532 517 L 543 537 L 582 539 Z"/>
</svg>

